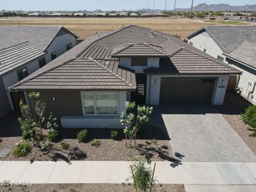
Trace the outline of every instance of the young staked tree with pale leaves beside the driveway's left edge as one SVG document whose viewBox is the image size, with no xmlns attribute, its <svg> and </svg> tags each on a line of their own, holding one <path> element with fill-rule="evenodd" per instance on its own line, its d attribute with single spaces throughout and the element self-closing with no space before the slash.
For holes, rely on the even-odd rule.
<svg viewBox="0 0 256 192">
<path fill-rule="evenodd" d="M 137 106 L 137 110 L 135 109 L 135 102 L 126 101 L 125 109 L 129 113 L 125 114 L 123 111 L 121 114 L 121 124 L 125 125 L 124 133 L 129 135 L 130 138 L 130 146 L 132 146 L 132 139 L 134 138 L 134 146 L 136 145 L 136 133 L 139 131 L 141 125 L 149 121 L 149 115 L 153 111 L 153 107 L 140 107 Z M 135 111 L 135 113 L 134 113 Z"/>
</svg>

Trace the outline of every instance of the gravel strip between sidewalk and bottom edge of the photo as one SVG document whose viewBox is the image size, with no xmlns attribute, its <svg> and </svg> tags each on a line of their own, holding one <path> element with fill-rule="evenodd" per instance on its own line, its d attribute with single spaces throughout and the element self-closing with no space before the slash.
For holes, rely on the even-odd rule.
<svg viewBox="0 0 256 192">
<path fill-rule="evenodd" d="M 131 185 L 122 185 L 122 184 L 37 184 L 33 186 L 27 187 L 18 187 L 18 186 L 9 186 L 9 187 L 0 187 L 0 190 L 3 192 L 7 191 L 26 191 L 26 192 L 133 192 L 135 191 L 134 187 Z M 175 191 L 175 192 L 185 192 L 184 185 L 156 185 L 154 187 L 155 192 L 167 192 L 167 191 Z"/>
</svg>

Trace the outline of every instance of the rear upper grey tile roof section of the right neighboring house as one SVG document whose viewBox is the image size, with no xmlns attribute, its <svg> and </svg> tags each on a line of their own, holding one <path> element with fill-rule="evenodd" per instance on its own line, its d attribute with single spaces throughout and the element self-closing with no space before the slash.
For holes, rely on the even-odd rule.
<svg viewBox="0 0 256 192">
<path fill-rule="evenodd" d="M 245 40 L 256 43 L 256 26 L 205 26 L 188 38 L 202 30 L 206 30 L 225 53 L 231 53 Z"/>
</svg>

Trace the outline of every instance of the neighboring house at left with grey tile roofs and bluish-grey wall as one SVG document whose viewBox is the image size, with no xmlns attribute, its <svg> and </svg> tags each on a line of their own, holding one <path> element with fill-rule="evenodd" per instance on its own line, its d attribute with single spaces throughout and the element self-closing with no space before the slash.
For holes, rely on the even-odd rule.
<svg viewBox="0 0 256 192">
<path fill-rule="evenodd" d="M 7 87 L 34 73 L 46 63 L 75 46 L 77 36 L 63 27 L 0 27 L 0 117 L 19 110 L 23 92 Z"/>
</svg>

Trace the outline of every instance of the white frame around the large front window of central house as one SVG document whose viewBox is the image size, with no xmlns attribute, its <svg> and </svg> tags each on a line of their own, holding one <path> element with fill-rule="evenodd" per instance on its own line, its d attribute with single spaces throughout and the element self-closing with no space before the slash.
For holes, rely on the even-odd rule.
<svg viewBox="0 0 256 192">
<path fill-rule="evenodd" d="M 85 113 L 85 108 L 84 108 L 84 94 L 93 94 L 93 100 L 94 100 L 94 114 L 86 114 Z M 117 102 L 117 105 L 116 105 L 116 114 L 98 114 L 97 113 L 97 102 L 96 102 L 96 94 L 97 93 L 103 93 L 103 94 L 116 94 L 116 102 Z M 82 110 L 83 110 L 83 116 L 117 116 L 119 115 L 119 92 L 118 91 L 81 91 L 81 101 L 82 101 Z"/>
</svg>

